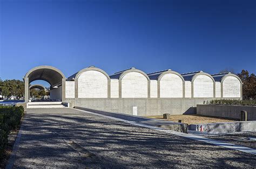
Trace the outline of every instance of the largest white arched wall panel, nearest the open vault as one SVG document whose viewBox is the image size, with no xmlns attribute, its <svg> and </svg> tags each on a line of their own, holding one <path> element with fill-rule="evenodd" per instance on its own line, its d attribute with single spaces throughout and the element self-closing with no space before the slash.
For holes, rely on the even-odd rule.
<svg viewBox="0 0 256 169">
<path fill-rule="evenodd" d="M 81 73 L 77 80 L 78 98 L 107 98 L 107 77 L 99 71 Z"/>
</svg>

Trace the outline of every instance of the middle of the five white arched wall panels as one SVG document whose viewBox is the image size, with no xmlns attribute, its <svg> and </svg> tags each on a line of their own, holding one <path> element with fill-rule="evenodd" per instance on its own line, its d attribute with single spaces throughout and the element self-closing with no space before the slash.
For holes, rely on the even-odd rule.
<svg viewBox="0 0 256 169">
<path fill-rule="evenodd" d="M 160 98 L 182 98 L 183 80 L 174 73 L 167 73 L 159 80 Z"/>
</svg>

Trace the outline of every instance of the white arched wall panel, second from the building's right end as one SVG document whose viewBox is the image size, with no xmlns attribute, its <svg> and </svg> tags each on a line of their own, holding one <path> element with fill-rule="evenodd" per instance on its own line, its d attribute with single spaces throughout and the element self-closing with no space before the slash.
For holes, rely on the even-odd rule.
<svg viewBox="0 0 256 169">
<path fill-rule="evenodd" d="M 213 80 L 206 75 L 199 75 L 193 82 L 194 98 L 212 98 Z"/>
</svg>

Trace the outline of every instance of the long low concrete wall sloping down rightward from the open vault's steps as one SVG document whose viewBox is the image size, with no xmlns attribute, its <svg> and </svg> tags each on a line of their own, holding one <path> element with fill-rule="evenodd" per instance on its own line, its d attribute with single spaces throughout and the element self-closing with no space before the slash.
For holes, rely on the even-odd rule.
<svg viewBox="0 0 256 169">
<path fill-rule="evenodd" d="M 165 121 L 165 120 L 156 120 L 156 119 L 150 119 L 145 117 L 138 117 L 138 116 L 132 116 L 129 114 L 122 114 L 122 113 L 113 113 L 113 112 L 105 112 L 100 110 L 93 110 L 93 109 L 87 109 L 85 107 L 75 107 L 79 110 L 85 110 L 93 113 L 103 114 L 105 116 L 115 117 L 119 119 L 129 120 L 129 121 L 136 121 L 137 123 L 160 127 L 167 130 L 173 130 L 178 132 L 187 133 L 188 132 L 188 125 L 184 123 L 177 123 L 173 121 Z"/>
</svg>

